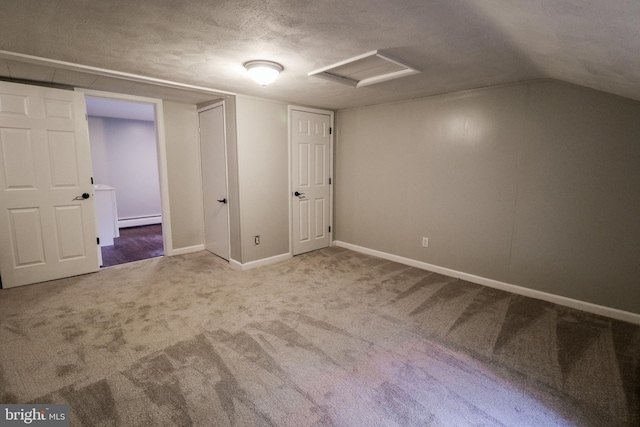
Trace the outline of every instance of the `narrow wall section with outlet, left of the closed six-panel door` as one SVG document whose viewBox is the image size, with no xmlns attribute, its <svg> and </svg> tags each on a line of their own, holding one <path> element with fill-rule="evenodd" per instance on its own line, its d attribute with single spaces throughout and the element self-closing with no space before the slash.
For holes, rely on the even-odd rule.
<svg viewBox="0 0 640 427">
<path fill-rule="evenodd" d="M 288 107 L 236 97 L 243 264 L 289 253 Z M 253 236 L 260 235 L 260 245 Z"/>
</svg>

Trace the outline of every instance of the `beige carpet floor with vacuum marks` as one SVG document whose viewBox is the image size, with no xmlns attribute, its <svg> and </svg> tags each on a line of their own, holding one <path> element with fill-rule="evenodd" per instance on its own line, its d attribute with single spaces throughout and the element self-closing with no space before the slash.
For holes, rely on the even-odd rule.
<svg viewBox="0 0 640 427">
<path fill-rule="evenodd" d="M 328 248 L 0 291 L 0 402 L 73 426 L 638 426 L 640 327 Z"/>
</svg>

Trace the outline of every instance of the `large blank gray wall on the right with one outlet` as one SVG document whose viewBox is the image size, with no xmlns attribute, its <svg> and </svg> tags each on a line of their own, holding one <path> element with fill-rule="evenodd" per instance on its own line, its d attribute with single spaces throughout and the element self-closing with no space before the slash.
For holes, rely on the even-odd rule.
<svg viewBox="0 0 640 427">
<path fill-rule="evenodd" d="M 640 103 L 589 89 L 337 114 L 336 240 L 634 313 L 639 189 Z"/>
</svg>

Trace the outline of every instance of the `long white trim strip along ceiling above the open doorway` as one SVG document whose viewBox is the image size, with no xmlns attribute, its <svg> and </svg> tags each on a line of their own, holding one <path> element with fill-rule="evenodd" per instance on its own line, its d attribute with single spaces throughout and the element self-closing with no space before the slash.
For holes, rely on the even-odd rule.
<svg viewBox="0 0 640 427">
<path fill-rule="evenodd" d="M 0 50 L 0 58 L 28 62 L 36 65 L 61 68 L 70 71 L 78 71 L 81 73 L 89 73 L 98 76 L 112 77 L 116 79 L 129 80 L 137 83 L 147 83 L 156 86 L 163 86 L 172 89 L 183 89 L 210 93 L 212 95 L 230 96 L 236 95 L 234 92 L 228 92 L 219 89 L 213 89 L 203 86 L 190 85 L 186 83 L 174 82 L 171 80 L 156 79 L 154 77 L 141 76 L 139 74 L 124 73 L 122 71 L 108 70 L 106 68 L 92 67 L 89 65 L 76 64 L 73 62 L 58 61 L 56 59 L 43 58 L 40 56 L 25 55 L 7 50 Z"/>
</svg>

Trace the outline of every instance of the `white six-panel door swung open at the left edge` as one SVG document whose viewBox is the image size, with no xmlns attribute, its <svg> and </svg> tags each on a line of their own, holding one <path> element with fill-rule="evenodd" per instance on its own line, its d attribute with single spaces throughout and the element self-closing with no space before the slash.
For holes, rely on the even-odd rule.
<svg viewBox="0 0 640 427">
<path fill-rule="evenodd" d="M 0 274 L 10 288 L 99 269 L 84 95 L 0 82 Z"/>
</svg>

